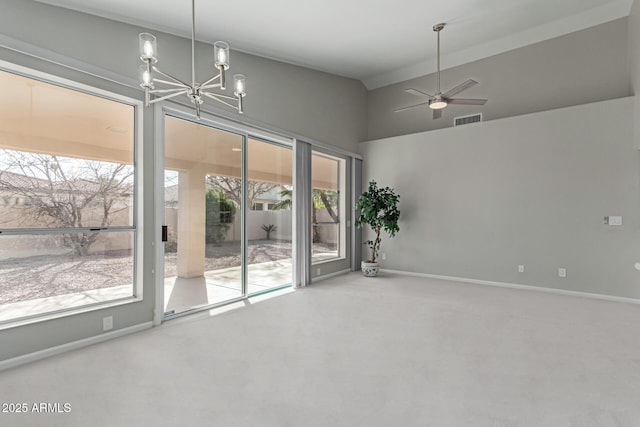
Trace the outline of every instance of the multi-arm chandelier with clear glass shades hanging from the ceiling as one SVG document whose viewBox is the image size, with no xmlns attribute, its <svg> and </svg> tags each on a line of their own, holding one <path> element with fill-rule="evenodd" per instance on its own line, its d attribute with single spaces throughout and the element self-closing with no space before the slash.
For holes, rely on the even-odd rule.
<svg viewBox="0 0 640 427">
<path fill-rule="evenodd" d="M 225 72 L 229 69 L 229 45 L 225 42 L 215 42 L 213 44 L 213 54 L 215 58 L 215 74 L 204 83 L 196 82 L 195 71 L 195 37 L 196 37 L 196 12 L 195 0 L 191 0 L 191 84 L 160 71 L 155 64 L 158 62 L 157 43 L 154 35 L 141 33 L 138 36 L 140 43 L 140 59 L 143 65 L 140 66 L 140 86 L 144 88 L 145 106 L 156 102 L 170 99 L 179 95 L 186 95 L 196 107 L 196 117 L 200 118 L 200 105 L 204 98 L 210 98 L 224 105 L 237 110 L 242 114 L 242 99 L 246 92 L 246 78 L 242 74 L 233 76 L 233 95 L 228 96 L 218 92 L 211 92 L 211 89 L 226 89 Z M 161 78 L 156 77 L 159 76 Z M 158 87 L 156 87 L 158 86 Z M 151 95 L 155 95 L 151 99 Z"/>
</svg>

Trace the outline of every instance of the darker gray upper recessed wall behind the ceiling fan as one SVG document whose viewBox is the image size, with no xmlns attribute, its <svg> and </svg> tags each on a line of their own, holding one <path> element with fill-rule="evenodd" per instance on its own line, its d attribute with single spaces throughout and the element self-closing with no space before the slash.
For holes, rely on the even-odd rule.
<svg viewBox="0 0 640 427">
<path fill-rule="evenodd" d="M 623 18 L 445 69 L 443 91 L 473 78 L 480 84 L 458 97 L 489 101 L 483 107 L 450 106 L 437 120 L 426 106 L 393 111 L 421 102 L 421 98 L 405 93 L 405 88 L 435 92 L 435 74 L 369 91 L 368 139 L 451 127 L 454 117 L 478 112 L 484 120 L 494 120 L 628 96 L 627 38 L 627 18 Z M 442 49 L 447 49 L 446 33 Z"/>
</svg>

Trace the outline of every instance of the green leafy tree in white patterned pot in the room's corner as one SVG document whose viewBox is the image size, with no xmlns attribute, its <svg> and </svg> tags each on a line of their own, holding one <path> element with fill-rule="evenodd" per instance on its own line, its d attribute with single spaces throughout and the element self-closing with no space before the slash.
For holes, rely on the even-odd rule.
<svg viewBox="0 0 640 427">
<path fill-rule="evenodd" d="M 361 264 L 362 273 L 367 277 L 378 275 L 378 253 L 382 242 L 380 233 L 385 231 L 389 237 L 393 237 L 400 231 L 399 201 L 400 196 L 392 188 L 378 188 L 374 180 L 369 181 L 369 189 L 358 199 L 356 209 L 360 210 L 360 215 L 356 219 L 356 227 L 362 228 L 368 225 L 375 233 L 374 240 L 364 242 L 371 250 L 370 257 Z"/>
</svg>

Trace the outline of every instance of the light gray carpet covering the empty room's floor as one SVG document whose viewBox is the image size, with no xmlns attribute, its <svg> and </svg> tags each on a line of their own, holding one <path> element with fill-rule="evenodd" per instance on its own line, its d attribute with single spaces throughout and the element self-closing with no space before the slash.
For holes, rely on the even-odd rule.
<svg viewBox="0 0 640 427">
<path fill-rule="evenodd" d="M 639 325 L 638 305 L 354 273 L 0 372 L 0 402 L 63 411 L 0 425 L 635 427 Z"/>
</svg>

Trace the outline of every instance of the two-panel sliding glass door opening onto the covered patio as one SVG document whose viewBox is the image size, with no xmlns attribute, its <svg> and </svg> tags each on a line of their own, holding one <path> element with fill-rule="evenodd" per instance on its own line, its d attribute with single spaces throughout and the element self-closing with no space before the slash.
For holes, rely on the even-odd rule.
<svg viewBox="0 0 640 427">
<path fill-rule="evenodd" d="M 164 121 L 165 317 L 291 284 L 291 149 Z"/>
</svg>

